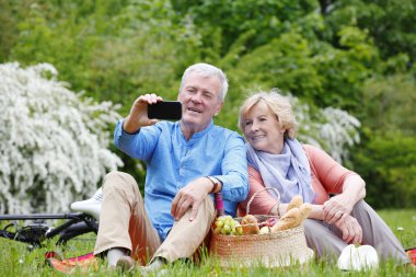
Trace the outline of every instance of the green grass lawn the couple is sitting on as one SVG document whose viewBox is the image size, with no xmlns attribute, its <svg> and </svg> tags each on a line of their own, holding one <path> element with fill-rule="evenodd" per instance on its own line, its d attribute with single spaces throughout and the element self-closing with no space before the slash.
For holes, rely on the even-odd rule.
<svg viewBox="0 0 416 277">
<path fill-rule="evenodd" d="M 380 216 L 397 235 L 404 247 L 416 246 L 416 210 L 381 210 Z M 403 228 L 403 231 L 397 230 Z M 45 266 L 44 254 L 47 250 L 62 253 L 65 257 L 85 254 L 94 246 L 94 236 L 88 235 L 82 240 L 74 240 L 67 249 L 55 246 L 49 241 L 44 247 L 30 251 L 27 244 L 0 239 L 0 276 L 63 276 Z M 327 261 L 313 262 L 309 266 L 292 266 L 285 269 L 269 269 L 262 266 L 250 268 L 221 268 L 211 258 L 203 258 L 200 265 L 175 263 L 166 267 L 164 276 L 416 276 L 404 268 L 395 268 L 392 262 L 381 264 L 378 270 L 370 273 L 343 273 Z M 105 261 L 99 262 L 97 270 L 88 274 L 76 272 L 73 276 L 123 276 L 117 272 L 109 272 Z M 139 273 L 134 276 L 140 276 Z M 157 276 L 152 274 L 150 276 Z"/>
</svg>

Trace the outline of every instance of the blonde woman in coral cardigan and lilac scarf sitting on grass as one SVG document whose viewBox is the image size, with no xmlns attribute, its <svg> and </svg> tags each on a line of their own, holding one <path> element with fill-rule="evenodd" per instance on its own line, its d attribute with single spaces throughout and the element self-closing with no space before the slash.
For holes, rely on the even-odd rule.
<svg viewBox="0 0 416 277">
<path fill-rule="evenodd" d="M 366 183 L 355 172 L 334 161 L 321 149 L 296 139 L 297 123 L 289 102 L 276 92 L 250 96 L 240 109 L 239 126 L 246 139 L 250 193 L 241 203 L 245 213 L 251 196 L 253 215 L 281 216 L 294 195 L 312 204 L 304 222 L 308 246 L 317 256 L 335 255 L 351 243 L 374 246 L 382 258 L 408 263 L 393 232 L 363 200 Z M 273 189 L 278 189 L 277 205 Z M 335 196 L 330 197 L 330 194 Z"/>
</svg>

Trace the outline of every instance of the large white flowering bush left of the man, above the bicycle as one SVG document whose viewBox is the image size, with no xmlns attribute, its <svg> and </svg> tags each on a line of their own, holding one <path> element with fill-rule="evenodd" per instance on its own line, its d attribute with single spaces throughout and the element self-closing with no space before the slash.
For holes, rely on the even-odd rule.
<svg viewBox="0 0 416 277">
<path fill-rule="evenodd" d="M 48 64 L 0 65 L 0 213 L 66 211 L 122 160 L 107 147 L 111 102 L 82 99 Z"/>
</svg>

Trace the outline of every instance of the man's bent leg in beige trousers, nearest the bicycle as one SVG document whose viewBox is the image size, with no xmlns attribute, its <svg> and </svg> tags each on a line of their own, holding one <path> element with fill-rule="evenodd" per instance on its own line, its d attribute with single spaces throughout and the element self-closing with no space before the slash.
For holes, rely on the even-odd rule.
<svg viewBox="0 0 416 277">
<path fill-rule="evenodd" d="M 103 204 L 94 254 L 124 249 L 142 263 L 161 241 L 143 208 L 143 199 L 132 176 L 108 173 L 103 183 Z"/>
</svg>

